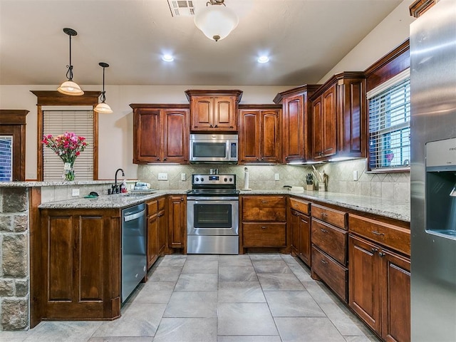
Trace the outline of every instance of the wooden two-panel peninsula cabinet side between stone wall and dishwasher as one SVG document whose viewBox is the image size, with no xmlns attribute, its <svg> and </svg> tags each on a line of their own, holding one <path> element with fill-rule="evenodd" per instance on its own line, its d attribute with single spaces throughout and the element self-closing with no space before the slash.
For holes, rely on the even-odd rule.
<svg viewBox="0 0 456 342">
<path fill-rule="evenodd" d="M 44 319 L 120 316 L 120 209 L 42 209 Z"/>
</svg>

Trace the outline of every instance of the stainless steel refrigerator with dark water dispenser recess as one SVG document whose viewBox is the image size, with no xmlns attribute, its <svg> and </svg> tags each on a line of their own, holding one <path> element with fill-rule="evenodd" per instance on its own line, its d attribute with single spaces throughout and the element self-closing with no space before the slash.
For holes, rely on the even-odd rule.
<svg viewBox="0 0 456 342">
<path fill-rule="evenodd" d="M 456 0 L 410 25 L 412 341 L 456 341 Z"/>
</svg>

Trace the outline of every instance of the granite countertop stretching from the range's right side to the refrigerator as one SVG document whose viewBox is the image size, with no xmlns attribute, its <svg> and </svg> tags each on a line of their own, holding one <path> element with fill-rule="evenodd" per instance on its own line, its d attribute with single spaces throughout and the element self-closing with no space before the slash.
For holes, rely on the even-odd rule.
<svg viewBox="0 0 456 342">
<path fill-rule="evenodd" d="M 394 199 L 380 197 L 342 194 L 338 192 L 304 191 L 291 192 L 289 190 L 252 190 L 243 191 L 241 195 L 293 195 L 302 199 L 338 205 L 339 207 L 368 212 L 371 214 L 399 219 L 410 222 L 410 202 L 399 202 Z"/>
</svg>

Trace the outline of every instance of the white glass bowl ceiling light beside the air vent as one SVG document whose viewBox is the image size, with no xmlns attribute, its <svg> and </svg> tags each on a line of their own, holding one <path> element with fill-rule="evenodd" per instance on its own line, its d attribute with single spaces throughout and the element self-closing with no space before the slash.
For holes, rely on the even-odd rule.
<svg viewBox="0 0 456 342">
<path fill-rule="evenodd" d="M 206 3 L 206 7 L 197 9 L 195 14 L 197 28 L 207 38 L 214 41 L 226 38 L 236 28 L 238 23 L 239 19 L 236 13 L 224 4 L 224 0 L 209 0 Z"/>
</svg>

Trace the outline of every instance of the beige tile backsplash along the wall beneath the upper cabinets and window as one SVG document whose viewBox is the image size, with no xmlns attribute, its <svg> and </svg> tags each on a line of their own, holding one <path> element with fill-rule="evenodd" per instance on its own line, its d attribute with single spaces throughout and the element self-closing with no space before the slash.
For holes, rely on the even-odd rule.
<svg viewBox="0 0 456 342">
<path fill-rule="evenodd" d="M 244 186 L 244 167 L 249 170 L 249 187 L 254 190 L 281 190 L 284 185 L 305 186 L 306 174 L 311 172 L 309 165 L 139 165 L 138 179 L 150 183 L 160 190 L 187 190 L 192 187 L 192 174 L 209 174 L 209 169 L 217 168 L 219 173 L 235 174 L 237 188 Z M 391 198 L 410 201 L 410 173 L 366 172 L 366 160 L 328 162 L 316 165 L 328 174 L 328 191 L 371 197 Z M 353 171 L 358 172 L 358 180 L 353 180 Z M 158 173 L 166 173 L 167 180 L 158 180 Z M 181 180 L 185 173 L 186 180 Z M 279 180 L 275 175 L 279 174 Z"/>
</svg>

